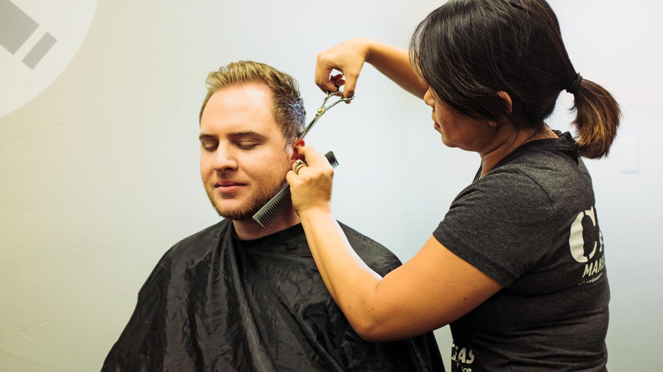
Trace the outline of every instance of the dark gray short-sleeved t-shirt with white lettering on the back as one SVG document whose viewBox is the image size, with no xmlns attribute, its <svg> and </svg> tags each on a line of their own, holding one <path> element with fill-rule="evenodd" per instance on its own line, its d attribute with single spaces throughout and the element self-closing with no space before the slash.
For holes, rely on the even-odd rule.
<svg viewBox="0 0 663 372">
<path fill-rule="evenodd" d="M 475 178 L 433 235 L 505 286 L 450 324 L 452 371 L 607 370 L 603 235 L 570 134 Z"/>
</svg>

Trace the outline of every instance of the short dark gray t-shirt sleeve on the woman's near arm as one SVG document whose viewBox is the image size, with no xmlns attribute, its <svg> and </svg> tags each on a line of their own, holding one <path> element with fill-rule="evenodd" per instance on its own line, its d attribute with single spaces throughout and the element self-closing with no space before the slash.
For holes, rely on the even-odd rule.
<svg viewBox="0 0 663 372">
<path fill-rule="evenodd" d="M 554 215 L 546 191 L 512 169 L 463 190 L 433 236 L 507 287 L 550 254 Z"/>
</svg>

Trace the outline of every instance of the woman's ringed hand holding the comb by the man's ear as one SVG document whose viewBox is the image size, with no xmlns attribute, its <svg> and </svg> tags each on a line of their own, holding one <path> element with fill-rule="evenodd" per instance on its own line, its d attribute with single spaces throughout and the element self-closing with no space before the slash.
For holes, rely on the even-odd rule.
<svg viewBox="0 0 663 372">
<path fill-rule="evenodd" d="M 306 165 L 295 173 L 293 164 L 293 169 L 286 174 L 290 184 L 292 207 L 299 216 L 312 210 L 329 212 L 333 167 L 327 158 L 316 152 L 312 146 L 300 148 L 300 154 L 304 155 Z"/>
</svg>

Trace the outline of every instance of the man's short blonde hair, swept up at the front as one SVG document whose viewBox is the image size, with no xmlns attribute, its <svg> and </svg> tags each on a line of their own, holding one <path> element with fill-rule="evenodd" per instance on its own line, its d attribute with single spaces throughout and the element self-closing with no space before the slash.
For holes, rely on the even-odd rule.
<svg viewBox="0 0 663 372">
<path fill-rule="evenodd" d="M 291 143 L 295 140 L 304 129 L 304 120 L 306 120 L 306 111 L 304 111 L 304 101 L 299 94 L 299 85 L 287 73 L 259 62 L 232 62 L 219 68 L 218 71 L 211 71 L 206 80 L 208 93 L 200 108 L 199 122 L 210 97 L 215 91 L 247 83 L 265 83 L 269 87 L 272 92 L 274 119 L 281 126 L 286 141 Z"/>
</svg>

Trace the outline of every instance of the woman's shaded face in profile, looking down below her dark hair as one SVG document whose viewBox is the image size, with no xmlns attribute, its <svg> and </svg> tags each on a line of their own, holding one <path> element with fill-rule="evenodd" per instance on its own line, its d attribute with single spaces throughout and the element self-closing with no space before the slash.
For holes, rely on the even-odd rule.
<svg viewBox="0 0 663 372">
<path fill-rule="evenodd" d="M 442 134 L 442 142 L 473 152 L 485 152 L 495 134 L 496 127 L 486 119 L 475 119 L 459 115 L 445 107 L 432 89 L 424 95 L 426 105 L 433 108 L 434 128 Z"/>
</svg>

